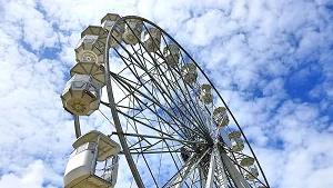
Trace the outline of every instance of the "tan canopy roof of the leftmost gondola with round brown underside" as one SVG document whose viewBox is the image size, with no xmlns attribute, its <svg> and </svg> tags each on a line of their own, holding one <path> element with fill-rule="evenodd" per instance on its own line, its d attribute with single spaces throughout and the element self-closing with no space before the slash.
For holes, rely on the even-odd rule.
<svg viewBox="0 0 333 188">
<path fill-rule="evenodd" d="M 105 86 L 105 73 L 104 67 L 94 62 L 78 62 L 74 67 L 71 68 L 70 75 L 73 77 L 78 75 L 90 75 L 94 78 L 95 81 L 102 88 Z"/>
</svg>

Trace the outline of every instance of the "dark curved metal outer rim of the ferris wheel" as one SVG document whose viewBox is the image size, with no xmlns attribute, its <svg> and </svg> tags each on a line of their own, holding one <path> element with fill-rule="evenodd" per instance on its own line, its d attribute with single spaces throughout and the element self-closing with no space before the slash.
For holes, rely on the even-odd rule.
<svg viewBox="0 0 333 188">
<path fill-rule="evenodd" d="M 152 21 L 150 21 L 150 20 L 148 20 L 148 19 L 144 19 L 144 18 L 141 18 L 141 17 L 138 17 L 138 16 L 127 16 L 127 17 L 122 17 L 121 19 L 119 19 L 119 20 L 115 22 L 115 24 L 119 23 L 120 21 L 124 21 L 125 19 L 139 19 L 139 20 L 141 20 L 141 21 L 144 21 L 144 22 L 147 22 L 147 23 L 149 23 L 149 24 L 155 27 L 155 28 L 159 29 L 163 34 L 165 34 L 169 39 L 171 39 L 171 40 L 172 40 L 172 41 L 173 41 L 173 42 L 182 50 L 182 52 L 184 52 L 184 55 L 185 55 L 188 58 L 191 59 L 191 61 L 195 65 L 195 67 L 200 70 L 200 72 L 201 72 L 201 73 L 204 76 L 204 78 L 209 81 L 209 83 L 211 85 L 211 87 L 213 88 L 213 90 L 218 93 L 219 99 L 223 102 L 223 105 L 225 106 L 226 110 L 228 110 L 229 113 L 231 115 L 233 121 L 235 122 L 235 125 L 238 126 L 239 130 L 241 131 L 243 138 L 245 139 L 245 142 L 248 144 L 248 146 L 249 146 L 249 148 L 250 148 L 250 150 L 251 150 L 251 152 L 252 152 L 252 155 L 253 155 L 255 161 L 258 162 L 258 166 L 259 166 L 259 168 L 260 168 L 261 175 L 263 176 L 266 186 L 270 187 L 270 186 L 269 186 L 269 182 L 268 182 L 268 180 L 266 180 L 266 177 L 265 177 L 265 175 L 264 175 L 264 172 L 263 172 L 263 170 L 262 170 L 262 168 L 261 168 L 261 165 L 260 165 L 260 162 L 259 162 L 259 160 L 258 160 L 258 158 L 256 158 L 256 156 L 255 156 L 255 154 L 254 154 L 254 151 L 253 151 L 253 149 L 252 149 L 252 147 L 251 147 L 249 140 L 248 140 L 248 138 L 245 137 L 244 132 L 242 131 L 242 129 L 241 129 L 239 122 L 236 121 L 235 117 L 233 116 L 232 111 L 231 111 L 230 108 L 228 107 L 226 102 L 224 101 L 224 99 L 222 98 L 222 96 L 220 95 L 220 92 L 218 91 L 218 89 L 215 88 L 215 86 L 212 83 L 212 81 L 211 81 L 211 80 L 209 79 L 209 77 L 205 75 L 205 72 L 203 71 L 203 69 L 196 63 L 196 61 L 188 53 L 188 51 L 186 51 L 185 49 L 183 49 L 182 46 L 180 46 L 180 44 L 178 43 L 176 40 L 174 40 L 167 31 L 164 31 L 162 28 L 160 28 L 158 24 L 153 23 Z M 115 24 L 113 24 L 113 27 L 114 27 Z M 105 72 L 108 72 L 108 73 L 105 73 L 105 82 L 107 82 L 107 89 L 108 89 L 109 106 L 110 106 L 111 113 L 112 113 L 112 118 L 113 118 L 113 121 L 114 121 L 114 118 L 118 118 L 118 119 L 119 119 L 119 117 L 118 117 L 118 112 L 117 112 L 117 109 L 115 109 L 114 99 L 113 99 L 113 102 L 112 102 L 112 101 L 110 101 L 110 97 L 109 97 L 109 96 L 110 96 L 110 93 L 109 93 L 109 90 L 110 90 L 110 89 L 109 89 L 109 88 L 111 88 L 111 90 L 112 90 L 111 78 L 110 78 L 110 67 L 109 67 L 109 53 L 110 53 L 110 51 L 109 51 L 109 44 L 110 44 L 109 40 L 112 38 L 112 34 L 110 34 L 110 33 L 112 33 L 113 27 L 111 28 L 111 30 L 110 30 L 110 32 L 109 32 L 109 34 L 108 34 L 108 38 L 107 38 L 105 49 L 108 49 L 108 50 L 105 50 L 105 53 L 104 53 L 104 63 L 105 63 L 105 67 L 104 67 L 104 68 L 105 68 Z M 107 77 L 108 77 L 108 78 L 107 78 Z M 109 88 L 108 88 L 108 87 L 109 87 Z M 111 96 L 113 97 L 113 92 L 112 92 Z M 111 107 L 111 106 L 113 106 L 113 107 Z M 112 112 L 112 111 L 113 111 L 113 112 Z M 115 121 L 117 121 L 117 120 L 115 120 Z M 115 123 L 115 121 L 114 121 L 114 123 Z M 117 125 L 117 123 L 115 123 L 115 125 Z M 121 125 L 120 125 L 120 123 L 119 123 L 118 126 L 121 128 Z M 123 133 L 123 131 L 122 131 L 122 129 L 121 129 L 120 135 L 122 135 L 122 133 Z M 120 136 L 120 137 L 124 138 L 124 136 Z M 128 145 L 127 145 L 127 141 L 125 141 L 125 140 L 124 140 L 124 144 L 125 144 L 125 145 L 122 145 L 122 144 L 121 144 L 123 149 L 124 149 L 124 148 L 128 148 Z M 131 156 L 130 152 L 129 152 L 129 154 L 125 154 L 125 156 L 130 156 L 130 157 L 132 158 L 132 156 Z M 133 160 L 133 158 L 132 158 L 132 160 Z M 128 161 L 128 162 L 129 162 L 129 161 Z M 135 165 L 134 165 L 134 166 L 135 166 Z M 134 167 L 134 168 L 137 169 L 137 172 L 133 174 L 133 171 L 132 171 L 132 174 L 133 174 L 134 179 L 135 179 L 135 174 L 137 174 L 137 176 L 139 176 L 139 177 L 140 177 L 140 175 L 139 175 L 139 172 L 138 172 L 138 168 L 137 168 L 137 167 Z M 135 179 L 135 181 L 137 181 L 138 187 L 144 187 L 144 184 L 142 182 L 141 177 L 140 177 L 140 179 Z M 140 182 L 140 181 L 141 181 L 141 182 Z"/>
</svg>

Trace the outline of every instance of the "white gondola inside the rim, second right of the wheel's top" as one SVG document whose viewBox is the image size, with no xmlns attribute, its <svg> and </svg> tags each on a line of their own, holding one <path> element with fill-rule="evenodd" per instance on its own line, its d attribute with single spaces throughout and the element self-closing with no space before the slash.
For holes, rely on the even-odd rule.
<svg viewBox="0 0 333 188">
<path fill-rule="evenodd" d="M 161 31 L 157 28 L 149 28 L 144 31 L 144 47 L 148 52 L 157 52 L 161 46 Z"/>
</svg>

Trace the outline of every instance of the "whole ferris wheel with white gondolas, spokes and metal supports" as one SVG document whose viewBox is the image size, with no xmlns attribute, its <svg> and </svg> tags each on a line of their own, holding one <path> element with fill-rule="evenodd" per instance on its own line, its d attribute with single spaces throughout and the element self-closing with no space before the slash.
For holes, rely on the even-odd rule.
<svg viewBox="0 0 333 188">
<path fill-rule="evenodd" d="M 270 187 L 213 82 L 159 26 L 108 13 L 81 33 L 75 58 L 61 95 L 77 135 L 64 188 L 117 188 L 125 162 L 132 187 Z M 81 135 L 79 116 L 100 106 L 110 108 L 115 131 Z"/>
</svg>

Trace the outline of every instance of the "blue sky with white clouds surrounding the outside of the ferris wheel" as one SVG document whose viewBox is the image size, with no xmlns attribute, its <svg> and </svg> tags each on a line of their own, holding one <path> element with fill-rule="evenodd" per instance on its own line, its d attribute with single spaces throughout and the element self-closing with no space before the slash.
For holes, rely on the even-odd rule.
<svg viewBox="0 0 333 188">
<path fill-rule="evenodd" d="M 144 17 L 186 49 L 272 187 L 333 187 L 332 0 L 1 0 L 1 188 L 62 187 L 74 129 L 59 96 L 81 31 L 108 12 Z"/>
</svg>

